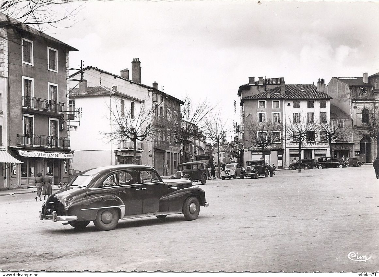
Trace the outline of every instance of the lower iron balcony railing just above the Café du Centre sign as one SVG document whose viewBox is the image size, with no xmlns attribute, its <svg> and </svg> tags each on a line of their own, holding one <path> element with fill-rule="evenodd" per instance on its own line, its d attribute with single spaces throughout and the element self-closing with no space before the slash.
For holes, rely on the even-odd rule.
<svg viewBox="0 0 379 277">
<path fill-rule="evenodd" d="M 17 145 L 24 147 L 70 150 L 70 138 L 60 136 L 18 134 Z"/>
</svg>

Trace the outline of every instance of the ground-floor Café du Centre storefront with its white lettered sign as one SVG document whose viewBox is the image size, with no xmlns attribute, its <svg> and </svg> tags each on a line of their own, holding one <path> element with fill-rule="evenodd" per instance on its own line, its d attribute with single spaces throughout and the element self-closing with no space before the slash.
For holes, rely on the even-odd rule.
<svg viewBox="0 0 379 277">
<path fill-rule="evenodd" d="M 28 188 L 35 186 L 35 177 L 49 173 L 53 185 L 61 182 L 69 183 L 69 165 L 74 153 L 42 152 L 18 150 L 16 158 L 22 164 L 14 164 L 9 168 L 9 188 Z"/>
</svg>

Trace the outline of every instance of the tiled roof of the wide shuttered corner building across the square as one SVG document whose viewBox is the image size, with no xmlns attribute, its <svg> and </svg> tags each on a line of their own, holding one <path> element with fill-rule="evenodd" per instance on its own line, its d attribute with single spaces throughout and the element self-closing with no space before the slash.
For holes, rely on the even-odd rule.
<svg viewBox="0 0 379 277">
<path fill-rule="evenodd" d="M 285 85 L 285 94 L 280 94 L 280 86 L 278 86 L 259 94 L 243 97 L 242 100 L 268 99 L 268 91 L 270 92 L 270 99 L 332 99 L 325 92 L 319 92 L 315 85 Z"/>
</svg>

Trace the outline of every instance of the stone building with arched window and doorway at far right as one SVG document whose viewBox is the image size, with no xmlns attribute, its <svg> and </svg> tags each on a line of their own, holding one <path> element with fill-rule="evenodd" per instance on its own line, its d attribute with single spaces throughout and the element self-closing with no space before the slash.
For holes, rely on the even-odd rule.
<svg viewBox="0 0 379 277">
<path fill-rule="evenodd" d="M 352 145 L 346 146 L 349 155 L 364 163 L 372 163 L 377 153 L 375 139 L 362 135 L 367 130 L 370 113 L 377 113 L 379 107 L 379 72 L 362 77 L 333 77 L 325 88 L 333 97 L 331 103 L 347 114 L 352 120 Z M 352 147 L 352 149 L 351 149 Z"/>
</svg>

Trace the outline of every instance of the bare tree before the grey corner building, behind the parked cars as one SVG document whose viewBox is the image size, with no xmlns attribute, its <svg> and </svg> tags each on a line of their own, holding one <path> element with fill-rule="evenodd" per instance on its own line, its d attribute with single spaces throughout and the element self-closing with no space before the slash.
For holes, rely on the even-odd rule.
<svg viewBox="0 0 379 277">
<path fill-rule="evenodd" d="M 263 123 L 250 121 L 245 125 L 245 128 L 245 140 L 251 146 L 262 149 L 263 158 L 265 157 L 264 151 L 266 148 L 281 143 L 283 124 L 273 123 L 271 118 L 267 118 L 266 122 Z"/>
</svg>

